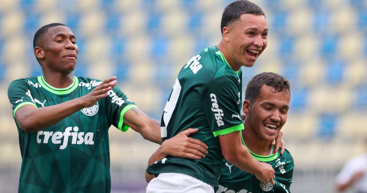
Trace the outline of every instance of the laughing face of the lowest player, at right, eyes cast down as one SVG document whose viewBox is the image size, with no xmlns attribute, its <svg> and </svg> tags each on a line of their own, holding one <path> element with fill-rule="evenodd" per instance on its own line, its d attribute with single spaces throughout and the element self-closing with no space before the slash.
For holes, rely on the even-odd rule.
<svg viewBox="0 0 367 193">
<path fill-rule="evenodd" d="M 243 111 L 258 139 L 272 142 L 287 121 L 290 94 L 275 92 L 274 87 L 263 85 L 255 101 L 245 100 Z"/>
</svg>

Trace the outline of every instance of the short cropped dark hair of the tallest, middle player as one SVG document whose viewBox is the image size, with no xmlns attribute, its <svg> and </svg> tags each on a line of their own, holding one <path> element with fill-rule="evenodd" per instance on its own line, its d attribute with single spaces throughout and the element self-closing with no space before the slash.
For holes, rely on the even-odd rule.
<svg viewBox="0 0 367 193">
<path fill-rule="evenodd" d="M 264 11 L 255 3 L 247 0 L 238 0 L 230 3 L 223 11 L 221 21 L 221 32 L 223 35 L 223 28 L 230 23 L 236 21 L 242 14 L 264 15 Z"/>
</svg>

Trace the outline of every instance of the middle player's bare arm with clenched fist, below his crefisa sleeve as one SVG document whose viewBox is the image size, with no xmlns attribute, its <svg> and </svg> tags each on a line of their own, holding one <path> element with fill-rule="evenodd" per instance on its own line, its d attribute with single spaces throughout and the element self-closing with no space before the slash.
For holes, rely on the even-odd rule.
<svg viewBox="0 0 367 193">
<path fill-rule="evenodd" d="M 275 183 L 273 181 L 275 171 L 272 166 L 265 162 L 259 162 L 251 156 L 247 148 L 240 142 L 240 131 L 218 135 L 218 137 L 225 160 L 245 172 L 255 174 L 256 178 L 264 183 Z"/>
</svg>

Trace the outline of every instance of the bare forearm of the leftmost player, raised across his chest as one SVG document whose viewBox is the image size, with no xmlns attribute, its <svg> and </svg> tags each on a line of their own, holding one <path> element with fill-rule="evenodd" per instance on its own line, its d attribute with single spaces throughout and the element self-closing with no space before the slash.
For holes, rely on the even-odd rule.
<svg viewBox="0 0 367 193">
<path fill-rule="evenodd" d="M 48 107 L 18 109 L 15 116 L 24 132 L 32 133 L 55 125 L 62 119 L 84 108 L 80 98 Z M 23 108 L 23 109 L 22 109 Z"/>
</svg>

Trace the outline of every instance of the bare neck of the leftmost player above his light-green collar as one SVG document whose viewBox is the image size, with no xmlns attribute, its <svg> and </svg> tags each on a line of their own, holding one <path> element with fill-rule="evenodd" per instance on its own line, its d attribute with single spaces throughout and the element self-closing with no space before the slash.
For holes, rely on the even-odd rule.
<svg viewBox="0 0 367 193">
<path fill-rule="evenodd" d="M 72 73 L 61 73 L 61 72 L 51 72 L 43 71 L 43 79 L 51 86 L 55 88 L 66 88 L 73 83 Z"/>
</svg>

